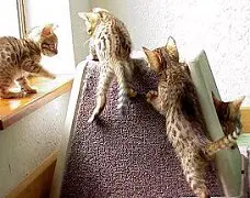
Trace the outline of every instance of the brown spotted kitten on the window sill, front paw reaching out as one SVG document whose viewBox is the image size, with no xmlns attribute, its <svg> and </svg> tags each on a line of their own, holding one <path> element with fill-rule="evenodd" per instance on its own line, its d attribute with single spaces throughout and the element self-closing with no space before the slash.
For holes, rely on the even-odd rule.
<svg viewBox="0 0 250 198">
<path fill-rule="evenodd" d="M 57 36 L 52 24 L 39 29 L 33 37 L 32 33 L 25 38 L 13 36 L 0 37 L 0 98 L 22 98 L 25 94 L 35 94 L 26 76 L 29 74 L 54 79 L 55 76 L 41 65 L 42 54 L 54 56 L 57 54 Z M 9 89 L 18 82 L 21 91 Z"/>
</svg>

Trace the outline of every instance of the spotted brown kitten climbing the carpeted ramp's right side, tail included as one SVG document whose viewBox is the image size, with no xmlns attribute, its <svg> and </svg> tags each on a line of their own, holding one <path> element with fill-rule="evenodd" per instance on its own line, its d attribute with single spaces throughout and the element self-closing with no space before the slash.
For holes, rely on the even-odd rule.
<svg viewBox="0 0 250 198">
<path fill-rule="evenodd" d="M 158 91 L 149 91 L 147 101 L 166 116 L 167 135 L 193 193 L 200 198 L 209 197 L 206 166 L 216 152 L 235 144 L 240 127 L 216 142 L 208 140 L 197 92 L 186 65 L 179 62 L 175 41 L 169 37 L 167 46 L 154 51 L 144 47 L 144 52 L 149 67 L 158 74 Z"/>
</svg>

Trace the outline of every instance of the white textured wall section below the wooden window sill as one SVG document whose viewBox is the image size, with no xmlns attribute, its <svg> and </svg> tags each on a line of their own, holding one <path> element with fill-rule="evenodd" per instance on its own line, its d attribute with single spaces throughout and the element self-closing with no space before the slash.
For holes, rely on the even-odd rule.
<svg viewBox="0 0 250 198">
<path fill-rule="evenodd" d="M 58 148 L 69 94 L 0 131 L 0 197 Z"/>
</svg>

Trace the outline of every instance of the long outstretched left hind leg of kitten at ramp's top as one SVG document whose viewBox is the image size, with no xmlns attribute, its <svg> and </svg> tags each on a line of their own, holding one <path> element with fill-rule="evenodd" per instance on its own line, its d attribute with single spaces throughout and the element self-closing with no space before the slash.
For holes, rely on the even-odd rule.
<svg viewBox="0 0 250 198">
<path fill-rule="evenodd" d="M 103 69 L 100 74 L 99 86 L 96 91 L 96 105 L 88 122 L 92 122 L 103 111 L 106 103 L 106 92 L 114 74 L 110 69 Z"/>
</svg>

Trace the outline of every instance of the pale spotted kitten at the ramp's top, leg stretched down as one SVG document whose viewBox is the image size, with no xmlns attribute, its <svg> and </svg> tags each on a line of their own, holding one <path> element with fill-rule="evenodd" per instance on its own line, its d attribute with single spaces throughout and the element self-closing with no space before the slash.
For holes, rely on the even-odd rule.
<svg viewBox="0 0 250 198">
<path fill-rule="evenodd" d="M 99 59 L 101 74 L 96 90 L 96 105 L 88 122 L 92 122 L 104 109 L 106 92 L 112 79 L 118 82 L 118 106 L 121 112 L 128 97 L 137 95 L 130 88 L 134 64 L 130 61 L 132 41 L 125 24 L 107 10 L 95 8 L 92 12 L 81 12 L 90 35 L 90 56 Z"/>
</svg>

